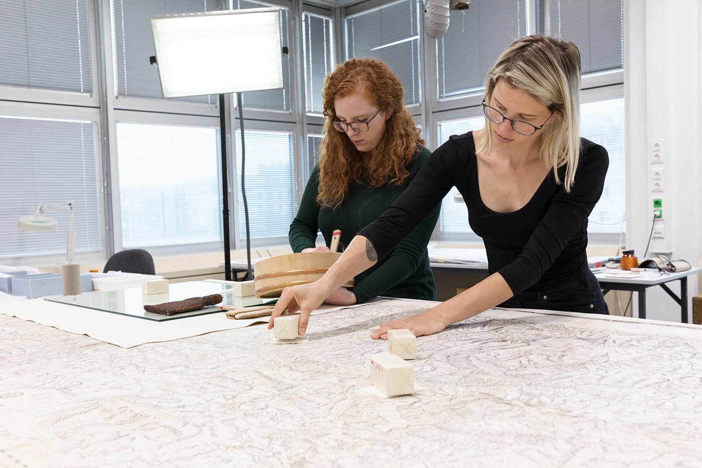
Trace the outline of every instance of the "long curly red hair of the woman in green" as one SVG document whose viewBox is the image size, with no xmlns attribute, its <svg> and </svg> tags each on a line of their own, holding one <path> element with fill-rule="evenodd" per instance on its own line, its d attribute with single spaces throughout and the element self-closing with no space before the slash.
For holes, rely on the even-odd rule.
<svg viewBox="0 0 702 468">
<path fill-rule="evenodd" d="M 359 93 L 378 109 L 392 112 L 385 121 L 385 134 L 378 144 L 378 157 L 371 167 L 348 136 L 337 131 L 334 100 Z M 324 138 L 319 145 L 319 194 L 317 203 L 336 208 L 343 202 L 352 183 L 368 179 L 373 187 L 394 183 L 399 186 L 409 176 L 417 145 L 423 145 L 412 115 L 402 100 L 404 89 L 399 78 L 376 58 L 352 58 L 324 78 Z M 382 117 L 380 117 L 382 118 Z M 373 122 L 371 122 L 371 125 Z"/>
</svg>

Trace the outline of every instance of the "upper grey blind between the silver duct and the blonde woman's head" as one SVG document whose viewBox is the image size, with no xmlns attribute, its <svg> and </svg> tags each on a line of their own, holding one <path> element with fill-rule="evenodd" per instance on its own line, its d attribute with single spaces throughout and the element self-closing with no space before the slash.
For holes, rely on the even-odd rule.
<svg viewBox="0 0 702 468">
<path fill-rule="evenodd" d="M 451 11 L 449 30 L 434 39 L 437 98 L 484 89 L 500 54 L 527 34 L 527 0 L 474 1 L 467 11 Z"/>
</svg>

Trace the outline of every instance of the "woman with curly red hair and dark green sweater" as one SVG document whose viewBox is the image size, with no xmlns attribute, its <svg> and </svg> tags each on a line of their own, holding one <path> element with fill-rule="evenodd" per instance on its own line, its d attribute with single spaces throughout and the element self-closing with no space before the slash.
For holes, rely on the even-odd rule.
<svg viewBox="0 0 702 468">
<path fill-rule="evenodd" d="M 293 252 L 329 251 L 333 230 L 345 246 L 404 191 L 430 151 L 404 105 L 397 76 L 375 58 L 352 58 L 324 79 L 324 138 L 290 226 Z M 376 296 L 435 299 L 427 245 L 434 209 L 392 254 L 339 287 L 325 302 L 350 305 Z M 315 247 L 321 230 L 326 247 Z"/>
</svg>

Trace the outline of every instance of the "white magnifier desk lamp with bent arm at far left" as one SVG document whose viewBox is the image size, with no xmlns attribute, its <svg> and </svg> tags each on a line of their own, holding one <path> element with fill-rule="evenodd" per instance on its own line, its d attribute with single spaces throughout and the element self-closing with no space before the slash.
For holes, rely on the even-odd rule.
<svg viewBox="0 0 702 468">
<path fill-rule="evenodd" d="M 41 216 L 42 214 L 53 209 L 68 208 L 71 212 L 68 225 L 68 235 L 66 242 L 66 264 L 61 266 L 61 276 L 63 283 L 63 295 L 72 295 L 81 293 L 80 280 L 80 265 L 72 264 L 76 252 L 76 236 L 73 230 L 73 200 L 58 203 L 39 203 L 37 211 L 34 214 L 22 216 L 17 221 L 17 227 L 22 230 L 33 230 L 39 232 L 48 232 L 58 228 L 58 221 L 49 217 Z"/>
</svg>

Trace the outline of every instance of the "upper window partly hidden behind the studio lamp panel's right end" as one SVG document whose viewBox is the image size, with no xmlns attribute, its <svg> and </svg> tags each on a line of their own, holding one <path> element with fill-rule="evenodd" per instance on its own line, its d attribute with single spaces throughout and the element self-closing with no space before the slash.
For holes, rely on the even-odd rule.
<svg viewBox="0 0 702 468">
<path fill-rule="evenodd" d="M 259 4 L 250 0 L 232 0 L 232 10 L 245 8 L 262 8 L 268 5 Z M 280 44 L 284 51 L 290 47 L 290 20 L 286 8 L 280 8 Z M 232 47 L 246 47 L 246 44 L 232 44 Z M 245 67 L 245 64 L 241 65 Z M 290 84 L 290 54 L 283 53 L 283 87 L 282 89 L 267 89 L 265 91 L 248 91 L 241 96 L 244 108 L 262 110 L 291 110 L 291 84 Z"/>
</svg>

